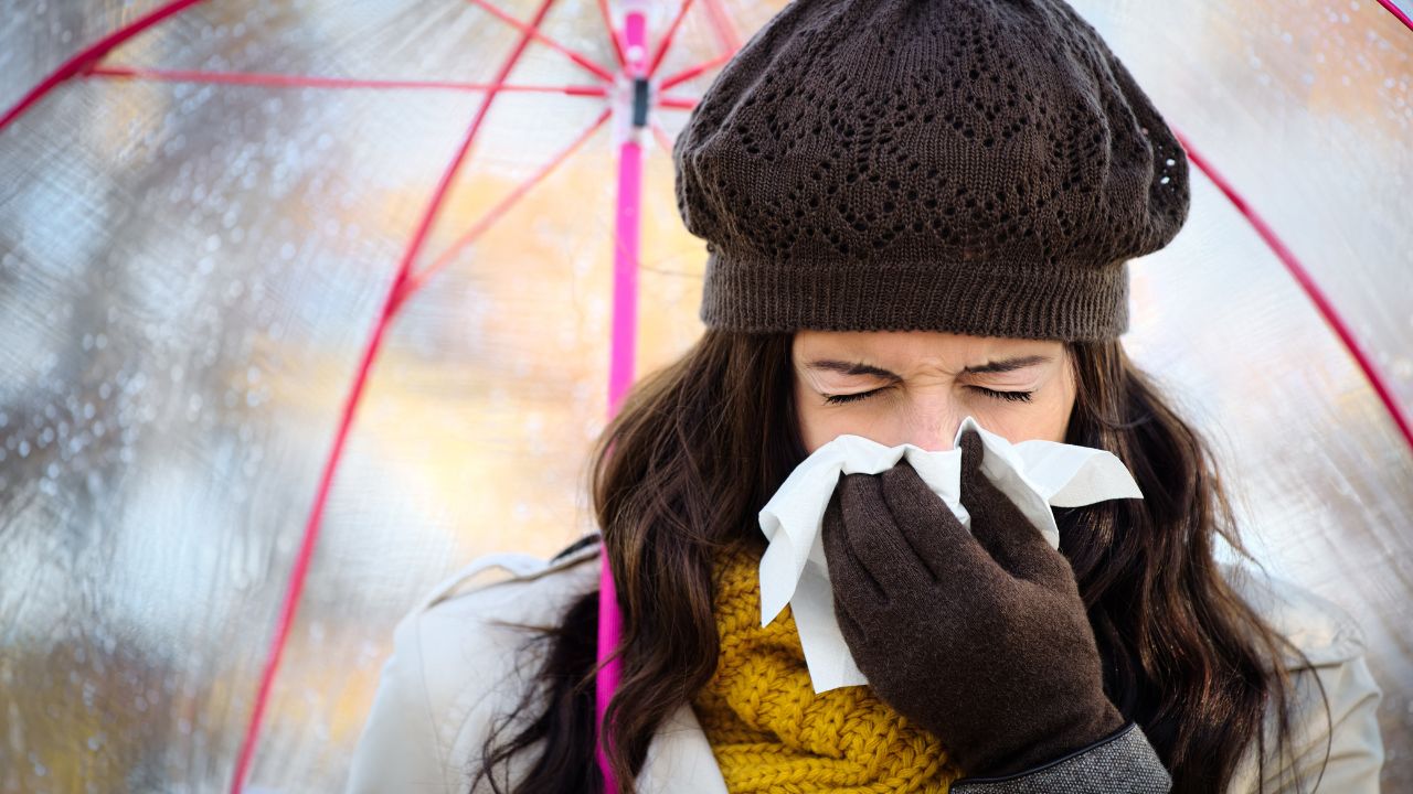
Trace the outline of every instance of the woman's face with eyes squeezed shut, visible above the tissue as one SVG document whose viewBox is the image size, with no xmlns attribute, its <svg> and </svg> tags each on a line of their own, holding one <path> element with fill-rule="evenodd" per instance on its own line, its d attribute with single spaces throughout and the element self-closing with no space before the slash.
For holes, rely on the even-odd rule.
<svg viewBox="0 0 1413 794">
<path fill-rule="evenodd" d="M 952 448 L 971 414 L 1012 444 L 1064 442 L 1074 374 L 1064 342 L 940 331 L 800 331 L 791 345 L 805 449 L 842 434 Z"/>
</svg>

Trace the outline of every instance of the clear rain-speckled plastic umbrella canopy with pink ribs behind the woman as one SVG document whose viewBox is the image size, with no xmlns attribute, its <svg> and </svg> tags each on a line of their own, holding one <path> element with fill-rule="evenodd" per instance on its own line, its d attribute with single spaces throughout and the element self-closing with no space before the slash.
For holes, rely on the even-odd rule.
<svg viewBox="0 0 1413 794">
<path fill-rule="evenodd" d="M 1200 174 L 1126 345 L 1364 622 L 1413 786 L 1413 24 L 1074 4 Z M 701 329 L 667 151 L 779 7 L 0 14 L 0 791 L 338 787 L 417 596 L 592 528 L 591 439 Z"/>
</svg>

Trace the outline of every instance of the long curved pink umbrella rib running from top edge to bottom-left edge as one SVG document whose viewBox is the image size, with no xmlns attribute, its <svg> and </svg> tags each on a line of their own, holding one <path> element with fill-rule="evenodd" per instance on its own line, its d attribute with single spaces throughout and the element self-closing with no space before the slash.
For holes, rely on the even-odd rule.
<svg viewBox="0 0 1413 794">
<path fill-rule="evenodd" d="M 544 20 L 544 16 L 550 11 L 550 7 L 555 0 L 543 0 L 540 10 L 536 13 L 534 21 L 530 24 L 528 31 L 521 34 L 514 49 L 506 58 L 504 64 L 496 73 L 495 82 L 504 82 L 510 69 L 514 68 L 516 62 L 524 54 L 526 47 L 530 44 L 531 32 Z M 325 461 L 324 475 L 319 479 L 319 489 L 314 499 L 314 506 L 309 510 L 308 521 L 304 528 L 304 538 L 300 544 L 300 551 L 294 559 L 294 568 L 290 572 L 290 585 L 285 591 L 284 605 L 280 610 L 280 619 L 276 624 L 276 633 L 270 643 L 270 650 L 266 657 L 264 671 L 260 677 L 260 689 L 256 694 L 254 709 L 250 715 L 250 722 L 246 726 L 246 735 L 240 745 L 240 756 L 236 762 L 235 777 L 230 783 L 230 790 L 233 794 L 240 794 L 246 773 L 250 767 L 250 760 L 254 756 L 254 749 L 260 740 L 260 725 L 264 716 L 266 705 L 270 701 L 270 691 L 274 685 L 276 674 L 280 668 L 280 658 L 284 654 L 285 643 L 290 637 L 290 627 L 294 623 L 294 615 L 300 605 L 300 596 L 304 592 L 304 582 L 309 571 L 309 561 L 314 558 L 315 543 L 319 535 L 319 524 L 324 517 L 324 504 L 328 500 L 329 489 L 333 483 L 333 473 L 338 469 L 339 461 L 342 459 L 343 445 L 348 441 L 349 428 L 353 422 L 353 414 L 357 410 L 357 404 L 363 396 L 363 387 L 367 383 L 369 372 L 372 370 L 373 360 L 377 357 L 377 352 L 382 348 L 383 335 L 390 325 L 393 315 L 401 305 L 398 297 L 404 288 L 406 281 L 411 275 L 413 261 L 417 259 L 422 243 L 431 232 L 432 223 L 437 219 L 437 213 L 441 209 L 442 202 L 447 198 L 447 192 L 451 189 L 451 184 L 461 170 L 462 162 L 471 153 L 471 146 L 476 140 L 476 134 L 480 131 L 480 124 L 486 120 L 486 113 L 490 109 L 492 102 L 496 97 L 496 92 L 492 90 L 486 100 L 476 110 L 476 116 L 471 123 L 466 137 L 461 143 L 461 148 L 456 151 L 455 158 L 447 167 L 442 174 L 441 181 L 437 184 L 437 189 L 428 202 L 427 211 L 422 213 L 421 222 L 417 226 L 417 232 L 408 243 L 407 250 L 403 254 L 403 260 L 398 264 L 397 275 L 393 278 L 393 284 L 387 291 L 387 298 L 383 302 L 383 311 L 373 326 L 373 333 L 363 350 L 363 359 L 359 365 L 357 374 L 353 379 L 353 384 L 349 389 L 348 397 L 343 403 L 343 413 L 339 418 L 338 435 L 333 439 L 333 446 L 329 451 L 329 456 Z"/>
</svg>

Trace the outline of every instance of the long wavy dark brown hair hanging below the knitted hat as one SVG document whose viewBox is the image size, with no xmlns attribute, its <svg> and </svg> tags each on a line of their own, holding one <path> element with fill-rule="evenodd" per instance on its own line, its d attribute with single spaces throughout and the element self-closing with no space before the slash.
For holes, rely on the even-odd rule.
<svg viewBox="0 0 1413 794">
<path fill-rule="evenodd" d="M 757 513 L 805 458 L 791 339 L 708 329 L 633 389 L 591 456 L 593 510 L 623 615 L 615 648 L 623 677 L 605 718 L 623 791 L 636 788 L 654 730 L 716 667 L 714 555 L 763 548 Z M 1280 754 L 1289 750 L 1290 681 L 1279 658 L 1293 646 L 1222 579 L 1218 535 L 1251 557 L 1202 439 L 1118 340 L 1068 349 L 1077 398 L 1065 442 L 1115 454 L 1145 494 L 1056 510 L 1060 551 L 1105 658 L 1105 689 L 1147 733 L 1173 791 L 1219 791 L 1253 742 L 1265 771 L 1267 704 L 1276 704 Z M 524 650 L 547 646 L 537 677 L 492 726 L 472 788 L 485 777 L 504 791 L 496 769 L 537 749 L 507 780 L 510 790 L 602 791 L 593 760 L 596 622 L 592 591 L 558 626 L 533 632 Z"/>
</svg>

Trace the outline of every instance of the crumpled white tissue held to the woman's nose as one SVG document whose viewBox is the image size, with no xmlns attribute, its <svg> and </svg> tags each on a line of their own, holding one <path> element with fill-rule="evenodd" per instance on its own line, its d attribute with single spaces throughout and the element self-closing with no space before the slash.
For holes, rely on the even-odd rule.
<svg viewBox="0 0 1413 794">
<path fill-rule="evenodd" d="M 1142 499 L 1133 475 L 1109 452 L 1054 441 L 1010 444 L 966 417 L 952 448 L 928 452 L 904 444 L 885 446 L 859 435 L 841 435 L 814 451 L 760 510 L 760 530 L 770 541 L 760 558 L 760 624 L 769 626 L 786 603 L 794 613 L 814 691 L 866 684 L 834 616 L 834 589 L 824 557 L 824 510 L 839 473 L 876 475 L 907 458 L 934 493 L 971 530 L 961 503 L 961 438 L 974 427 L 986 455 L 982 472 L 1009 496 L 1053 548 L 1060 530 L 1050 507 L 1078 507 L 1106 499 Z"/>
</svg>

